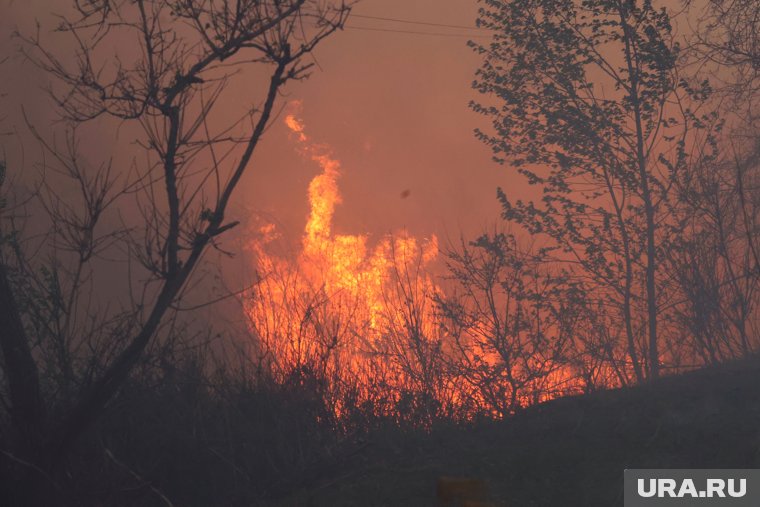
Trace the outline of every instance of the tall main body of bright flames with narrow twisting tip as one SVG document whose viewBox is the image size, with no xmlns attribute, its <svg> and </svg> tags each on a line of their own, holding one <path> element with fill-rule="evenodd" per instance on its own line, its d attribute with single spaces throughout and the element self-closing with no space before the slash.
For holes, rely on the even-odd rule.
<svg viewBox="0 0 760 507">
<path fill-rule="evenodd" d="M 261 228 L 252 245 L 260 282 L 246 310 L 260 355 L 283 376 L 318 370 L 333 382 L 351 382 L 363 391 L 359 396 L 367 395 L 378 374 L 393 389 L 405 390 L 413 379 L 406 368 L 393 365 L 420 358 L 402 357 L 409 351 L 390 334 L 413 325 L 416 339 L 438 339 L 430 299 L 439 288 L 427 274 L 438 240 L 418 240 L 402 231 L 371 244 L 367 234 L 336 234 L 340 161 L 311 139 L 295 114 L 287 115 L 285 124 L 321 172 L 308 187 L 309 215 L 297 256 L 286 259 L 268 251 L 277 238 L 272 224 Z"/>
</svg>

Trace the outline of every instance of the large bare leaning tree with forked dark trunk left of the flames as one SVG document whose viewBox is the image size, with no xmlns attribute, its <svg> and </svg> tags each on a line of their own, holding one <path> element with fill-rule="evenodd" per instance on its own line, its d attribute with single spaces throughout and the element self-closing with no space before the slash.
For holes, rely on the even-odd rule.
<svg viewBox="0 0 760 507">
<path fill-rule="evenodd" d="M 15 310 L 8 283 L 11 265 L 34 269 L 24 264 L 24 252 L 5 252 L 0 300 L 9 311 L 2 312 L 0 348 L 17 442 L 23 442 L 13 451 L 19 462 L 54 470 L 128 378 L 175 301 L 192 289 L 188 282 L 204 252 L 238 223 L 227 211 L 278 93 L 308 76 L 312 63 L 305 58 L 343 26 L 349 10 L 342 1 L 77 0 L 57 27 L 73 41 L 74 54 L 58 54 L 39 33 L 18 36 L 29 60 L 53 79 L 51 97 L 71 132 L 115 118 L 139 127 L 142 151 L 129 174 L 109 164 L 89 169 L 73 133 L 61 147 L 33 130 L 58 181 L 78 190 L 73 199 L 50 183 L 37 194 L 53 224 L 51 258 L 65 259 L 49 268 L 46 295 L 58 300 L 42 321 L 53 327 L 64 376 L 73 375 L 77 350 L 89 351 L 90 365 L 63 415 L 53 417 L 37 371 L 38 337 Z M 247 68 L 268 76 L 258 105 L 215 126 L 217 105 Z M 124 211 L 131 199 L 138 220 Z M 114 225 L 120 214 L 122 225 Z M 130 285 L 129 304 L 118 311 L 91 311 L 90 280 L 114 248 L 130 266 L 130 284 L 144 281 Z"/>
</svg>

